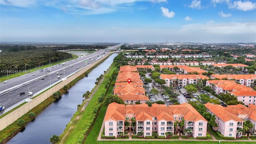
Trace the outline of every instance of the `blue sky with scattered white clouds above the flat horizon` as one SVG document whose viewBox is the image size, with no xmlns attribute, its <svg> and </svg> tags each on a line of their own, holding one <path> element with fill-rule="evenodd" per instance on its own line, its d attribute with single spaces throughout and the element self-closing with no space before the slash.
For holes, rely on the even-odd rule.
<svg viewBox="0 0 256 144">
<path fill-rule="evenodd" d="M 256 0 L 0 0 L 0 42 L 256 42 Z"/>
</svg>

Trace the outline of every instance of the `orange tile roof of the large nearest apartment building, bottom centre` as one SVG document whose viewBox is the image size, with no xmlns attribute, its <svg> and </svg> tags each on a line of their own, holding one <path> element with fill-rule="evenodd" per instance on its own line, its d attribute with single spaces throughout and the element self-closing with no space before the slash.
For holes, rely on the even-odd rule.
<svg viewBox="0 0 256 144">
<path fill-rule="evenodd" d="M 189 121 L 198 121 L 206 119 L 199 114 L 190 104 L 178 104 L 178 105 L 170 105 L 165 106 L 163 104 L 152 104 L 152 106 L 145 106 L 141 104 L 135 105 L 124 105 L 124 104 L 117 104 L 115 102 L 108 105 L 108 109 L 106 111 L 106 116 L 104 121 L 110 120 L 118 120 L 117 116 L 112 116 L 114 113 L 118 113 L 123 115 L 120 116 L 120 120 L 124 120 L 124 116 L 127 114 L 126 112 L 134 111 L 134 115 L 136 116 L 136 120 L 152 120 L 152 117 L 157 117 L 158 120 L 167 120 L 167 121 L 174 121 L 172 115 L 174 111 L 180 111 L 180 113 L 184 116 L 185 120 Z M 207 122 L 207 121 L 206 121 Z"/>
</svg>

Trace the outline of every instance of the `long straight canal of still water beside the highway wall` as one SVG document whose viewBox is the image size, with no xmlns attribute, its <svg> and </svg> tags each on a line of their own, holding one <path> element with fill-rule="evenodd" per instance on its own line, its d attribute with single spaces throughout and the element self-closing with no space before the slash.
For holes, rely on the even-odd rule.
<svg viewBox="0 0 256 144">
<path fill-rule="evenodd" d="M 81 104 L 84 99 L 82 95 L 94 88 L 96 78 L 104 74 L 116 56 L 117 54 L 112 54 L 102 64 L 94 68 L 88 77 L 79 80 L 68 90 L 67 94 L 63 94 L 60 100 L 48 106 L 26 126 L 23 132 L 19 132 L 7 144 L 50 144 L 50 138 L 54 134 L 60 135 L 70 122 L 77 110 L 77 105 Z"/>
</svg>

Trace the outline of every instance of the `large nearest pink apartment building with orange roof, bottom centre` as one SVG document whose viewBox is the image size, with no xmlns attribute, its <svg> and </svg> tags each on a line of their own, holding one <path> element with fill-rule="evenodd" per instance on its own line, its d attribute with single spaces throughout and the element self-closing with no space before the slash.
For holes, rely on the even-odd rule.
<svg viewBox="0 0 256 144">
<path fill-rule="evenodd" d="M 134 127 L 125 126 L 125 122 L 130 119 L 136 120 Z M 159 136 L 166 136 L 166 132 L 176 133 L 174 122 L 184 120 L 183 130 L 191 130 L 194 138 L 197 136 L 206 136 L 207 120 L 204 119 L 190 104 L 183 103 L 179 105 L 165 106 L 164 104 L 136 104 L 124 105 L 115 102 L 108 105 L 104 118 L 105 136 L 117 137 L 124 131 L 143 132 L 145 136 L 152 136 L 152 132 L 157 132 Z"/>
</svg>

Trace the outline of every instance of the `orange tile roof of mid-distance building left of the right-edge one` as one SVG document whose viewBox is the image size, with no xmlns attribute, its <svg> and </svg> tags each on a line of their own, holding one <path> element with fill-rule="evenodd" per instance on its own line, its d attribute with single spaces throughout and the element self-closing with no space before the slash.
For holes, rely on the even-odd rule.
<svg viewBox="0 0 256 144">
<path fill-rule="evenodd" d="M 160 74 L 162 79 L 170 79 L 170 80 L 182 80 L 182 79 L 209 79 L 207 76 L 202 74 Z"/>
</svg>

